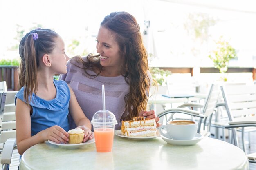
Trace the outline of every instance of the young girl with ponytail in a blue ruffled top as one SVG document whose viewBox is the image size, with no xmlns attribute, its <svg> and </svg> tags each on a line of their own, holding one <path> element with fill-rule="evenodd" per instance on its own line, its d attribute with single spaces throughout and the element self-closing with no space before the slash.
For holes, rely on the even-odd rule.
<svg viewBox="0 0 256 170">
<path fill-rule="evenodd" d="M 92 139 L 91 124 L 81 110 L 74 92 L 55 74 L 67 72 L 65 45 L 50 29 L 27 33 L 19 47 L 21 57 L 16 94 L 16 137 L 20 155 L 31 146 L 47 141 L 68 141 L 70 113 L 76 126 L 85 131 L 83 142 Z"/>
</svg>

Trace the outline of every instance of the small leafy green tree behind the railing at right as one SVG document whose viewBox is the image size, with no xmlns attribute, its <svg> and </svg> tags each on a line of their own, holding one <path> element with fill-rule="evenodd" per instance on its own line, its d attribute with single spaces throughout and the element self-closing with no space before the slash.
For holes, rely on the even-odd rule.
<svg viewBox="0 0 256 170">
<path fill-rule="evenodd" d="M 236 58 L 236 50 L 229 44 L 229 42 L 220 40 L 216 42 L 217 48 L 212 51 L 209 58 L 213 61 L 214 67 L 218 68 L 220 73 L 225 73 L 228 69 L 229 60 Z"/>
</svg>

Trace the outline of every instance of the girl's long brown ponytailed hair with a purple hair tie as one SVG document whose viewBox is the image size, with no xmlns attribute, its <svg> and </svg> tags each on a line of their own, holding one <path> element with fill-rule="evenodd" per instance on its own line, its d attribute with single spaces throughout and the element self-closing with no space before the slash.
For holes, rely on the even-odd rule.
<svg viewBox="0 0 256 170">
<path fill-rule="evenodd" d="M 38 35 L 33 39 L 33 34 Z M 59 35 L 50 29 L 35 29 L 27 33 L 20 41 L 20 68 L 18 89 L 24 87 L 24 99 L 29 103 L 32 93 L 37 92 L 37 68 L 43 55 L 52 52 L 55 38 Z"/>
</svg>

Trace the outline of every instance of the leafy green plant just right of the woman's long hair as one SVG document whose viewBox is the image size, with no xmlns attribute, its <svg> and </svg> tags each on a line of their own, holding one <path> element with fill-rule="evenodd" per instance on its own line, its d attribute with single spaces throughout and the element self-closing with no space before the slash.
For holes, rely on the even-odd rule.
<svg viewBox="0 0 256 170">
<path fill-rule="evenodd" d="M 171 71 L 163 70 L 157 67 L 150 68 L 152 79 L 157 82 L 158 86 L 166 85 L 166 77 L 171 75 Z"/>
</svg>

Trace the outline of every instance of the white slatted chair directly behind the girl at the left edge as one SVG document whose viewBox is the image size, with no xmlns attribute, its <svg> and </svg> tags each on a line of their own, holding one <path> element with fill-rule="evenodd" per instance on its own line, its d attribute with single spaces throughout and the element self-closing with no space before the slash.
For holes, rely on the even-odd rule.
<svg viewBox="0 0 256 170">
<path fill-rule="evenodd" d="M 14 107 L 14 94 L 16 92 L 5 92 L 1 94 L 1 110 L 0 110 L 0 144 L 1 149 L 1 165 L 2 169 L 18 169 L 20 162 L 20 155 L 16 149 L 16 127 L 15 127 L 15 105 Z M 9 96 L 9 97 L 8 97 Z M 8 102 L 7 102 L 8 101 Z M 12 103 L 10 103 L 12 102 Z M 5 105 L 9 105 L 9 111 L 6 112 Z M 15 149 L 13 149 L 15 148 Z"/>
</svg>

